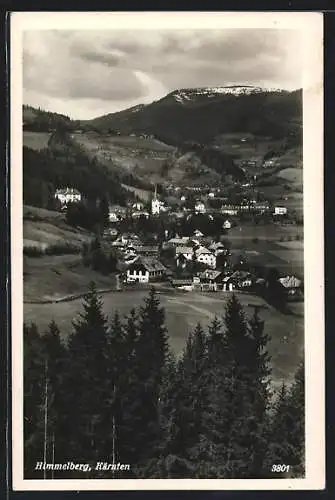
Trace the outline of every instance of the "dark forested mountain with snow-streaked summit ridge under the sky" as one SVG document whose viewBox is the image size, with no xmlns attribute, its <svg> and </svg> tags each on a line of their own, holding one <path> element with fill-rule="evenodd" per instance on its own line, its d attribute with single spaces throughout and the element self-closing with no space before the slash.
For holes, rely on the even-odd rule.
<svg viewBox="0 0 335 500">
<path fill-rule="evenodd" d="M 167 144 L 208 144 L 225 133 L 302 139 L 302 91 L 252 86 L 200 87 L 170 92 L 158 101 L 83 122 L 104 131 L 148 134 Z"/>
</svg>

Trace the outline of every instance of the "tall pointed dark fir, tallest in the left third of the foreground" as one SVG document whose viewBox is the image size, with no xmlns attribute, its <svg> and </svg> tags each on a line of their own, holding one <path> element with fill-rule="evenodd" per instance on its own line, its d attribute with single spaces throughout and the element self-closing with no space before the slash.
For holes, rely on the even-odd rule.
<svg viewBox="0 0 335 500">
<path fill-rule="evenodd" d="M 105 439 L 101 421 L 108 384 L 107 320 L 94 283 L 83 309 L 69 338 L 66 437 L 71 456 L 92 460 Z"/>
</svg>

